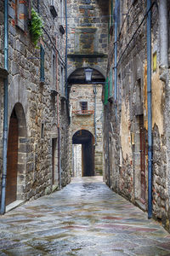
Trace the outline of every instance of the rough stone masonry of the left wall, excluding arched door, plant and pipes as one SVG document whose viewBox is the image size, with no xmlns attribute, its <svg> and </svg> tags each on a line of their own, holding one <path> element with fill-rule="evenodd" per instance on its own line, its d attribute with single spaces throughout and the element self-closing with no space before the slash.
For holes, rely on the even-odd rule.
<svg viewBox="0 0 170 256">
<path fill-rule="evenodd" d="M 3 17 L 2 2 L 0 2 L 0 16 Z M 38 10 L 37 3 L 37 1 L 31 3 L 36 10 Z M 17 199 L 24 201 L 36 199 L 50 193 L 52 189 L 65 186 L 70 182 L 71 177 L 68 143 L 69 112 L 63 95 L 65 91 L 65 35 L 59 30 L 60 20 L 54 19 L 50 12 L 50 4 L 48 0 L 39 5 L 39 15 L 44 29 L 37 48 L 32 44 L 31 35 L 27 29 L 28 16 L 23 20 L 26 22 L 26 30 L 23 30 L 20 26 L 16 26 L 14 0 L 9 1 L 8 6 L 8 124 L 11 113 L 15 109 L 19 121 Z M 60 1 L 54 1 L 58 14 L 59 5 Z M 28 10 L 28 6 L 26 9 Z M 2 31 L 3 26 L 0 23 L 1 34 Z M 0 38 L 0 60 L 2 60 L 3 37 Z M 40 81 L 42 61 L 40 43 L 45 52 L 44 82 Z M 3 61 L 0 63 L 2 65 Z M 2 160 L 3 80 L 0 83 L 0 160 Z M 54 149 L 53 140 L 57 143 Z M 53 163 L 53 154 L 55 154 L 55 163 Z M 2 174 L 2 163 L 0 166 Z M 56 172 L 54 177 L 58 177 L 54 181 L 53 172 Z"/>
</svg>

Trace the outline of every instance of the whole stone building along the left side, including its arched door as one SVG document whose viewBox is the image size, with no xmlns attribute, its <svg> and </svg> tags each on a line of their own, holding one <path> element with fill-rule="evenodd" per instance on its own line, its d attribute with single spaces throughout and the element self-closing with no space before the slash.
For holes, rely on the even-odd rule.
<svg viewBox="0 0 170 256">
<path fill-rule="evenodd" d="M 37 14 L 42 37 L 35 42 L 30 29 Z M 7 151 L 6 206 L 70 182 L 65 40 L 64 0 L 0 1 L 0 177 L 2 184 Z"/>
</svg>

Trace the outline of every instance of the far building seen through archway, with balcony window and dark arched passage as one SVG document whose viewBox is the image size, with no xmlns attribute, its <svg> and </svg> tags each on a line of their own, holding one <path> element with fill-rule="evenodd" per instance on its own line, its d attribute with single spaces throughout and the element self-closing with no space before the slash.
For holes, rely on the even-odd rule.
<svg viewBox="0 0 170 256">
<path fill-rule="evenodd" d="M 76 148 L 77 144 L 82 144 L 79 153 L 77 151 L 82 154 L 82 176 L 103 173 L 101 93 L 101 84 L 71 86 L 71 143 Z"/>
</svg>

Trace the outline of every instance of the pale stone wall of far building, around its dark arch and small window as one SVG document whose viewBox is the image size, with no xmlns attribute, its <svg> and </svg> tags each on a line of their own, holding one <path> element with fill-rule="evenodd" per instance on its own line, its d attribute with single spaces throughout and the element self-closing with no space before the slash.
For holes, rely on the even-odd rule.
<svg viewBox="0 0 170 256">
<path fill-rule="evenodd" d="M 71 104 L 71 141 L 77 131 L 87 130 L 94 136 L 94 108 L 96 108 L 96 145 L 94 154 L 95 173 L 103 172 L 103 134 L 102 134 L 102 85 L 96 84 L 96 107 L 94 107 L 94 84 L 75 84 L 71 86 L 70 104 Z M 80 114 L 80 102 L 88 102 L 88 113 Z"/>
</svg>

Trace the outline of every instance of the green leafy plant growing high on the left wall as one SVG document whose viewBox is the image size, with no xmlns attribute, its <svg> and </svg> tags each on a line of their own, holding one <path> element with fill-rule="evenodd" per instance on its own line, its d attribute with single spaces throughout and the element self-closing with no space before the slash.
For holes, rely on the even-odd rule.
<svg viewBox="0 0 170 256">
<path fill-rule="evenodd" d="M 31 32 L 31 41 L 35 46 L 37 46 L 38 40 L 42 37 L 42 20 L 41 17 L 37 14 L 35 9 L 31 9 L 31 22 L 30 22 L 30 32 Z"/>
</svg>

